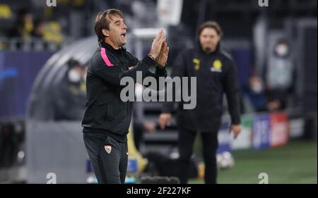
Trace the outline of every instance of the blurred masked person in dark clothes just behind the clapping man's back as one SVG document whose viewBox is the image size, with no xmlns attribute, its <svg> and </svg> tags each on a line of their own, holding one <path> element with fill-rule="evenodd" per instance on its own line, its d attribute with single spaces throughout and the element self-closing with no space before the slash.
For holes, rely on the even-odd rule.
<svg viewBox="0 0 318 198">
<path fill-rule="evenodd" d="M 69 70 L 54 89 L 54 120 L 81 120 L 86 102 L 86 66 L 71 59 Z"/>
</svg>

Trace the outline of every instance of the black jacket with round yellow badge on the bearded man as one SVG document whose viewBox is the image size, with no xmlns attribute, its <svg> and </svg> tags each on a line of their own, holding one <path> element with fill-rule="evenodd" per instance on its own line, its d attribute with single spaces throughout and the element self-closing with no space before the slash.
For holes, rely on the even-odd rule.
<svg viewBox="0 0 318 198">
<path fill-rule="evenodd" d="M 172 68 L 172 78 L 175 76 L 196 77 L 197 84 L 196 108 L 183 109 L 184 101 L 180 102 L 178 125 L 190 130 L 217 131 L 223 113 L 224 94 L 228 99 L 232 124 L 240 124 L 237 71 L 232 58 L 220 51 L 219 46 L 211 54 L 206 54 L 199 47 L 182 51 Z M 171 113 L 172 110 L 173 102 L 165 102 L 162 112 Z"/>
</svg>

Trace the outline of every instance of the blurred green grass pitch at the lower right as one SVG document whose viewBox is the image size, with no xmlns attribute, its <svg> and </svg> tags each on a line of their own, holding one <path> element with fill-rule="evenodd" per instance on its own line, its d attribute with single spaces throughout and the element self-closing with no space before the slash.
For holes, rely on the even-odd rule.
<svg viewBox="0 0 318 198">
<path fill-rule="evenodd" d="M 317 184 L 317 142 L 291 141 L 284 147 L 261 151 L 233 151 L 235 166 L 218 171 L 220 184 L 258 184 L 259 173 L 269 175 L 269 184 Z M 189 183 L 204 183 L 189 180 Z"/>
</svg>

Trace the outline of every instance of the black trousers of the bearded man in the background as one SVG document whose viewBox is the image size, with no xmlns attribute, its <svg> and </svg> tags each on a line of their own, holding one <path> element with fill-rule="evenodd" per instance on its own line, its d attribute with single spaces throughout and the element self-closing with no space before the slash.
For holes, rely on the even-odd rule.
<svg viewBox="0 0 318 198">
<path fill-rule="evenodd" d="M 193 153 L 193 144 L 198 132 L 179 128 L 179 180 L 186 184 L 189 178 L 189 165 Z M 217 166 L 216 149 L 218 149 L 218 131 L 201 132 L 203 156 L 205 163 L 204 180 L 207 184 L 216 184 Z"/>
</svg>

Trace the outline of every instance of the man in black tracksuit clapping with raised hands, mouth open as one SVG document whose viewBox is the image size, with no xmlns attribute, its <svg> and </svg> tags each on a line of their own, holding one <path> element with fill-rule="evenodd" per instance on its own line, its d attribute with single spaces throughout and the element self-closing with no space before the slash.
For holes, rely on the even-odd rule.
<svg viewBox="0 0 318 198">
<path fill-rule="evenodd" d="M 83 117 L 83 139 L 99 183 L 124 183 L 128 159 L 126 134 L 131 122 L 132 101 L 122 101 L 120 80 L 142 77 L 158 80 L 166 77 L 165 63 L 169 48 L 163 30 L 153 40 L 151 52 L 139 61 L 129 54 L 126 25 L 121 11 L 110 9 L 98 13 L 95 33 L 100 47 L 88 67 L 86 112 Z M 155 74 L 148 71 L 155 66 Z"/>
</svg>

